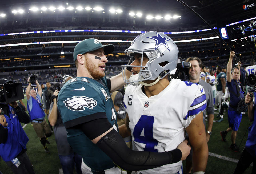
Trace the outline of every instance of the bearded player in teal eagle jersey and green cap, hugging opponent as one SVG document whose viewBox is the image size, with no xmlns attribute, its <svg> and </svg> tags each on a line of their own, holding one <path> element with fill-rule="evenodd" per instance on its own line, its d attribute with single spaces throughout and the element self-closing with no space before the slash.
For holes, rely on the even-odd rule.
<svg viewBox="0 0 256 174">
<path fill-rule="evenodd" d="M 105 54 L 113 45 L 97 39 L 85 39 L 74 49 L 77 77 L 69 80 L 58 95 L 58 109 L 68 132 L 73 151 L 82 156 L 83 173 L 121 173 L 145 170 L 186 159 L 190 151 L 187 140 L 168 152 L 132 151 L 118 133 L 116 111 L 110 92 L 121 88 L 122 73 L 107 79 Z M 131 72 L 125 71 L 126 78 Z M 118 167 L 116 167 L 118 166 Z"/>
</svg>

